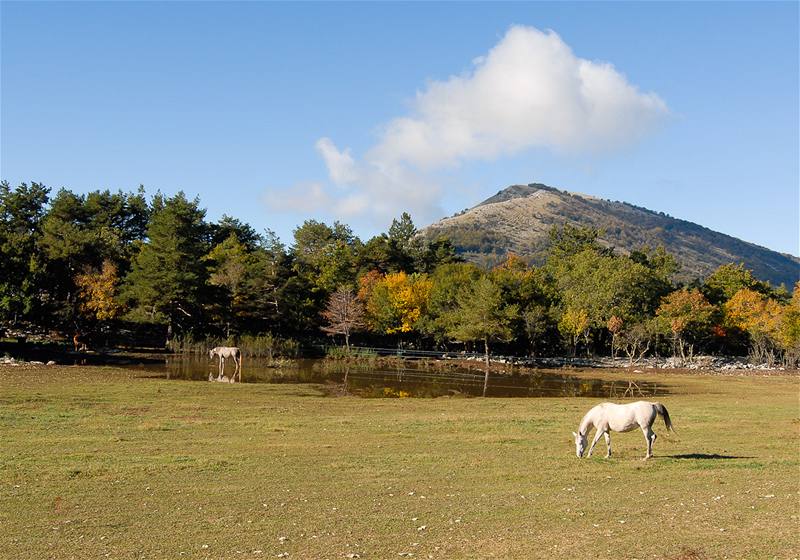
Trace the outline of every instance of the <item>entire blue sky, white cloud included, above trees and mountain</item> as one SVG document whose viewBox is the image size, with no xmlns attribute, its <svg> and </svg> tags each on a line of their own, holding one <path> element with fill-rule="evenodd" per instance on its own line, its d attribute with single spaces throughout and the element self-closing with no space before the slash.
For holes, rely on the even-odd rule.
<svg viewBox="0 0 800 560">
<path fill-rule="evenodd" d="M 800 252 L 796 2 L 2 2 L 0 16 L 12 184 L 184 190 L 210 219 L 289 241 L 305 218 L 366 237 L 404 210 L 425 225 L 543 182 Z"/>
</svg>

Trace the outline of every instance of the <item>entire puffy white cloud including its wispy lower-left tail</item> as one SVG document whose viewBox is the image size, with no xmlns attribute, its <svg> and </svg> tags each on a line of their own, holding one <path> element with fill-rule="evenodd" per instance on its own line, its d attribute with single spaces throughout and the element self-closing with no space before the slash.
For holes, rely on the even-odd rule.
<svg viewBox="0 0 800 560">
<path fill-rule="evenodd" d="M 514 26 L 470 71 L 417 92 L 410 114 L 381 127 L 360 161 L 320 138 L 316 148 L 339 188 L 306 185 L 305 200 L 337 218 L 385 224 L 409 211 L 425 223 L 440 215 L 433 171 L 535 148 L 619 148 L 667 114 L 658 95 L 640 92 L 613 65 L 575 56 L 553 31 Z"/>
</svg>

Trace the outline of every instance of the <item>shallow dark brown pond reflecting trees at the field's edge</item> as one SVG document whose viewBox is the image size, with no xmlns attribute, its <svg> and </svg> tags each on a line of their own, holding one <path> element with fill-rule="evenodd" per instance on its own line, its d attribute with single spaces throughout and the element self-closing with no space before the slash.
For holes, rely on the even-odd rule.
<svg viewBox="0 0 800 560">
<path fill-rule="evenodd" d="M 233 372 L 233 364 L 226 374 Z M 134 366 L 131 366 L 134 367 Z M 206 360 L 170 358 L 165 363 L 135 366 L 146 377 L 171 380 L 208 381 L 217 377 L 216 363 Z M 668 394 L 663 383 L 620 376 L 599 379 L 563 370 L 536 370 L 533 373 L 490 373 L 467 368 L 425 368 L 414 366 L 345 365 L 325 360 L 298 360 L 291 365 L 269 367 L 257 360 L 246 360 L 243 383 L 315 383 L 331 395 L 360 397 L 601 397 L 651 398 Z M 227 381 L 227 377 L 224 378 Z"/>
</svg>

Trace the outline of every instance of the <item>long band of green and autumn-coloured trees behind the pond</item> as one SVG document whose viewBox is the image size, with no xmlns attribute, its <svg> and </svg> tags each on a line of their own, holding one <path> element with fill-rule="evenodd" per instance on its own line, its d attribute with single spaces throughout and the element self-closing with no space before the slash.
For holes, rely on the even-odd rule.
<svg viewBox="0 0 800 560">
<path fill-rule="evenodd" d="M 463 262 L 408 214 L 367 241 L 307 220 L 290 245 L 182 192 L 0 183 L 0 321 L 108 331 L 163 328 L 166 340 L 270 333 L 349 346 L 412 345 L 529 356 L 699 352 L 796 366 L 800 283 L 790 293 L 731 263 L 689 284 L 663 248 L 619 254 L 599 232 L 553 228 L 545 261 Z"/>
</svg>

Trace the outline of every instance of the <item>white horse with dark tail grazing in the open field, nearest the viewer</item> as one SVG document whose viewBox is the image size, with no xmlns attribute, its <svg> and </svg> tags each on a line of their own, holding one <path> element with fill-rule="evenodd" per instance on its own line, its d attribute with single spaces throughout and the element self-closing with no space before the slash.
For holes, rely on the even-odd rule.
<svg viewBox="0 0 800 560">
<path fill-rule="evenodd" d="M 586 449 L 586 436 L 594 428 L 597 433 L 594 436 L 587 457 L 592 456 L 592 450 L 600 440 L 601 435 L 606 438 L 606 447 L 608 448 L 606 458 L 611 457 L 611 436 L 609 431 L 629 432 L 638 426 L 642 429 L 644 439 L 647 441 L 647 455 L 645 455 L 644 459 L 649 459 L 653 456 L 653 442 L 656 440 L 656 434 L 653 432 L 653 422 L 656 421 L 656 416 L 659 414 L 664 418 L 664 424 L 667 429 L 674 432 L 667 407 L 661 403 L 638 401 L 629 404 L 598 404 L 583 417 L 578 433 L 572 432 L 572 435 L 575 436 L 575 454 L 578 457 L 583 457 L 583 451 Z"/>
</svg>

